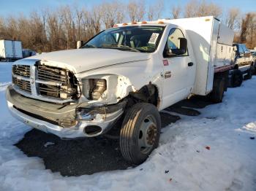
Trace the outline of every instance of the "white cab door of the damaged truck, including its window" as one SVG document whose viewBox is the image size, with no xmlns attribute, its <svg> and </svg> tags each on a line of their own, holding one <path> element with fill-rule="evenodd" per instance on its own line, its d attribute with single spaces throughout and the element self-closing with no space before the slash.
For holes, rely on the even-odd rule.
<svg viewBox="0 0 256 191">
<path fill-rule="evenodd" d="M 195 83 L 195 63 L 189 57 L 189 50 L 181 54 L 180 39 L 184 34 L 179 28 L 171 28 L 162 55 L 164 71 L 163 102 L 170 106 L 191 93 Z M 168 51 L 170 54 L 165 54 Z"/>
</svg>

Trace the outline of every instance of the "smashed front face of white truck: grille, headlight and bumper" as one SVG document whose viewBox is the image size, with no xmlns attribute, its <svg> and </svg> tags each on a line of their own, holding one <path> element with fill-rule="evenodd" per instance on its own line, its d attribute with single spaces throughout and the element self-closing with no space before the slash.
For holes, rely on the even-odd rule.
<svg viewBox="0 0 256 191">
<path fill-rule="evenodd" d="M 127 100 L 110 93 L 117 76 L 77 79 L 72 69 L 56 63 L 26 64 L 12 67 L 12 85 L 7 88 L 10 112 L 21 122 L 73 139 L 106 133 L 123 114 Z"/>
</svg>

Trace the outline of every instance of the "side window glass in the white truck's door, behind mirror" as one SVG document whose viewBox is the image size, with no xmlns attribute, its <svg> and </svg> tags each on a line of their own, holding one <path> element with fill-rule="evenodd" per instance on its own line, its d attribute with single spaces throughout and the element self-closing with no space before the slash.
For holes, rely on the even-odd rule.
<svg viewBox="0 0 256 191">
<path fill-rule="evenodd" d="M 178 28 L 172 28 L 170 30 L 170 33 L 167 39 L 166 48 L 169 49 L 171 52 L 176 52 L 181 47 L 181 44 L 180 44 L 181 38 L 184 38 L 184 34 L 182 34 L 181 30 Z M 184 55 L 188 55 L 188 51 L 185 52 L 184 54 L 173 55 L 173 56 L 184 56 Z"/>
</svg>

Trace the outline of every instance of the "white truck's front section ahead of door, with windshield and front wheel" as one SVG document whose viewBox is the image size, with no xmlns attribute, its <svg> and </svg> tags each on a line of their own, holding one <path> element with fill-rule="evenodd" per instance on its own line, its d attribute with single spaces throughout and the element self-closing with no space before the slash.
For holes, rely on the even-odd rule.
<svg viewBox="0 0 256 191">
<path fill-rule="evenodd" d="M 78 50 L 16 61 L 7 88 L 10 112 L 62 139 L 99 136 L 121 122 L 115 126 L 121 154 L 142 163 L 158 146 L 159 110 L 166 105 L 164 44 L 158 47 L 164 31 L 161 23 L 109 28 Z"/>
</svg>

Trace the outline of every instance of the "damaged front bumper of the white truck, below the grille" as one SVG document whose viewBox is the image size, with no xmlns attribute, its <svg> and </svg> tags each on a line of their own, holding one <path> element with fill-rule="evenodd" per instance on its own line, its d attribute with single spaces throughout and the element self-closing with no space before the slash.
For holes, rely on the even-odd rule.
<svg viewBox="0 0 256 191">
<path fill-rule="evenodd" d="M 63 106 L 26 98 L 15 92 L 11 85 L 7 87 L 6 97 L 7 106 L 12 116 L 32 128 L 37 128 L 45 133 L 53 133 L 66 139 L 99 136 L 107 132 L 113 123 L 121 117 L 125 105 L 104 106 L 104 111 L 108 111 L 105 113 L 95 113 L 97 109 L 94 108 L 94 114 L 91 117 L 90 113 L 77 114 L 81 104 Z M 89 106 L 85 103 L 83 103 L 83 107 L 86 111 L 90 111 Z M 59 125 L 65 124 L 67 121 L 71 126 Z M 86 129 L 90 127 L 97 127 L 97 131 L 88 133 L 89 131 Z"/>
</svg>

